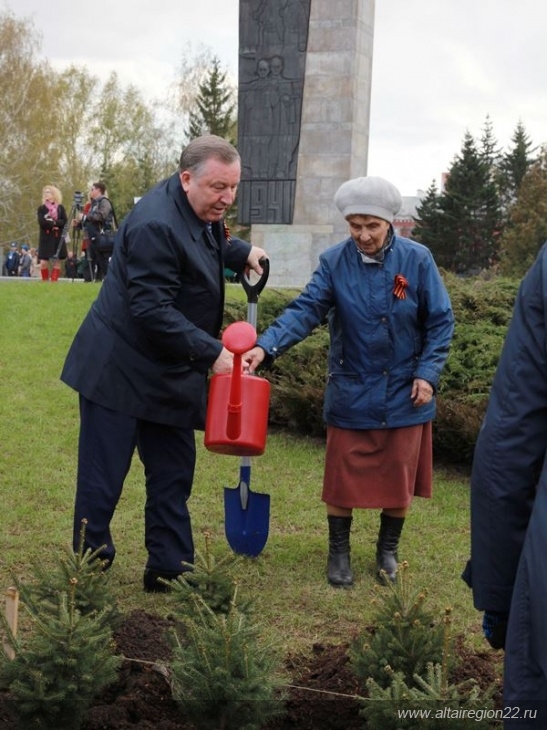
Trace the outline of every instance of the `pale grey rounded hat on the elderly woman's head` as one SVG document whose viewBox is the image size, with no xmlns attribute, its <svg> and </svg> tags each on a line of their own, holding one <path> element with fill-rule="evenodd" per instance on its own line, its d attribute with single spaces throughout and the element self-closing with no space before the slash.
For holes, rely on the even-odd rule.
<svg viewBox="0 0 547 730">
<path fill-rule="evenodd" d="M 356 177 L 338 188 L 334 204 L 344 218 L 375 215 L 392 223 L 403 199 L 395 185 L 382 177 Z"/>
</svg>

